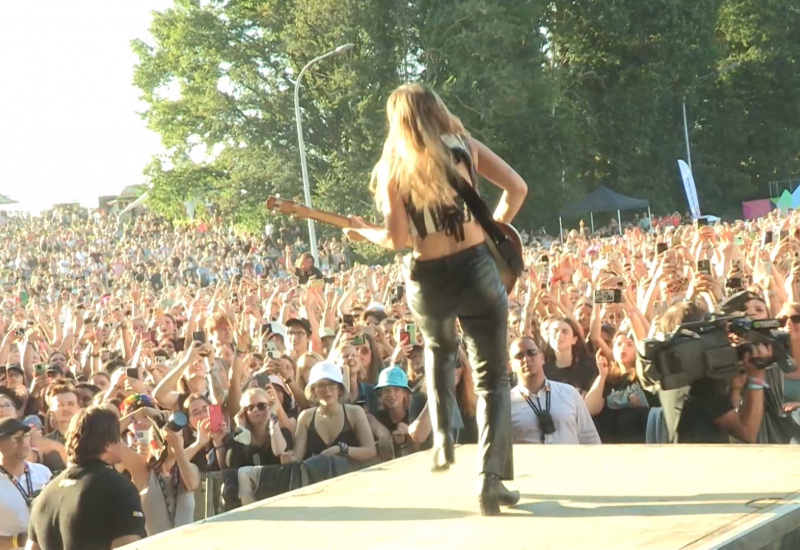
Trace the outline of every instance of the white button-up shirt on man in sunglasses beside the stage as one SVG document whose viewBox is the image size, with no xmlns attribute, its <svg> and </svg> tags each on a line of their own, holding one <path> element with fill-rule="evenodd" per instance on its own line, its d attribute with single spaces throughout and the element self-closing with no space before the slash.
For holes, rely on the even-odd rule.
<svg viewBox="0 0 800 550">
<path fill-rule="evenodd" d="M 544 442 L 547 444 L 600 443 L 597 428 L 594 427 L 592 416 L 589 414 L 581 394 L 569 384 L 546 380 L 539 393 L 531 396 L 534 404 L 545 410 L 548 388 L 550 390 L 550 416 L 553 417 L 556 431 L 546 435 Z M 511 433 L 514 443 L 541 444 L 539 419 L 525 400 L 526 396 L 528 396 L 528 390 L 523 386 L 516 386 L 511 390 Z"/>
</svg>

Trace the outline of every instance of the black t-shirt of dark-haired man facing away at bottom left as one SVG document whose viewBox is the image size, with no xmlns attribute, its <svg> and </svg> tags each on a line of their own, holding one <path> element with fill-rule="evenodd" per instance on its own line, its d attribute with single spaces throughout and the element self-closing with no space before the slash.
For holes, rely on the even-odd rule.
<svg viewBox="0 0 800 550">
<path fill-rule="evenodd" d="M 28 537 L 45 550 L 107 550 L 114 539 L 144 538 L 136 487 L 102 461 L 71 465 L 34 500 Z"/>
</svg>

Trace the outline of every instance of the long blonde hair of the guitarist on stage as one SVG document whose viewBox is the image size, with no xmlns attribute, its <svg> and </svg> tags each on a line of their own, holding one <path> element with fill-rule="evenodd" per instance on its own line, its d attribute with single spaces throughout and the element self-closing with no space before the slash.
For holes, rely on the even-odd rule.
<svg viewBox="0 0 800 550">
<path fill-rule="evenodd" d="M 419 83 L 403 84 L 392 92 L 386 102 L 386 117 L 389 134 L 372 170 L 372 190 L 377 189 L 378 181 L 393 180 L 400 195 L 417 208 L 453 204 L 447 176 L 455 165 L 441 137 L 465 135 L 461 121 L 436 92 Z M 376 196 L 379 208 L 384 198 Z"/>
</svg>

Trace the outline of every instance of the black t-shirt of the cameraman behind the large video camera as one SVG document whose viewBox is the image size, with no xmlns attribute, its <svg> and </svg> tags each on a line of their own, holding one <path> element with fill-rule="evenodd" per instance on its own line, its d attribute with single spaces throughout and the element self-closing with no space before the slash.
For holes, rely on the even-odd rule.
<svg viewBox="0 0 800 550">
<path fill-rule="evenodd" d="M 678 422 L 679 443 L 728 443 L 730 438 L 715 422 L 733 410 L 725 382 L 701 378 L 689 389 Z"/>
</svg>

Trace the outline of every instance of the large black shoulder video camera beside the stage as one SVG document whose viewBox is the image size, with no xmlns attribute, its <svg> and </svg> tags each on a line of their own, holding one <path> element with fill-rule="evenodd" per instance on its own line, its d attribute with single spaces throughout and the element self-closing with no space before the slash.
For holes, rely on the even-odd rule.
<svg viewBox="0 0 800 550">
<path fill-rule="evenodd" d="M 785 321 L 726 315 L 743 311 L 747 294 L 731 296 L 720 304 L 721 313 L 706 321 L 681 324 L 663 340 L 641 340 L 636 371 L 642 387 L 655 392 L 690 386 L 700 378 L 729 380 L 742 373 L 741 360 L 753 344 L 769 344 L 772 348 L 771 357 L 752 359 L 753 364 L 766 368 L 777 363 L 784 372 L 792 372 L 794 361 L 788 334 L 776 330 Z"/>
</svg>

